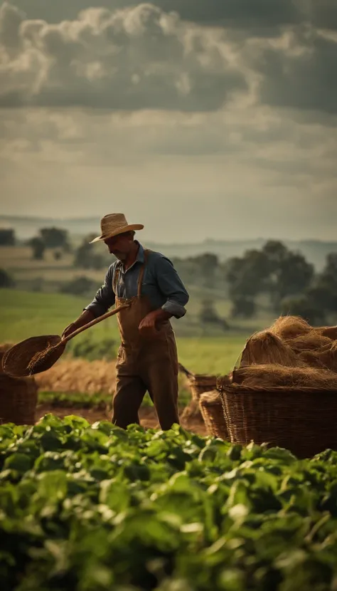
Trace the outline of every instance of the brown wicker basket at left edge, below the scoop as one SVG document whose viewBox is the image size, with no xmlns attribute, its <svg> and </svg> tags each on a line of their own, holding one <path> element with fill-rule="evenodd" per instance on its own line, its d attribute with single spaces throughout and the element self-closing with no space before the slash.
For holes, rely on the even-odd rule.
<svg viewBox="0 0 337 591">
<path fill-rule="evenodd" d="M 0 375 L 0 424 L 33 425 L 38 387 L 33 378 Z"/>
</svg>

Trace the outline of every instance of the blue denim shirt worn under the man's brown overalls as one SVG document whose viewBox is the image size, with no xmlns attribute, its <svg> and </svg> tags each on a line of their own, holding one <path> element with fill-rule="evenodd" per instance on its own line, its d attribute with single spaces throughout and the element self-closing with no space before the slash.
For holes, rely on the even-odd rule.
<svg viewBox="0 0 337 591">
<path fill-rule="evenodd" d="M 139 243 L 137 242 L 137 244 Z M 142 263 L 144 263 L 144 248 L 139 244 L 137 259 L 127 271 L 124 271 L 122 261 L 115 261 L 109 266 L 105 282 L 85 310 L 90 310 L 97 317 L 105 314 L 114 305 L 115 294 L 112 286 L 114 285 L 114 273 L 117 269 L 119 269 L 117 297 L 129 299 L 137 295 L 137 283 Z M 189 300 L 186 288 L 173 267 L 173 263 L 159 252 L 149 252 L 141 295 L 146 295 L 155 309 L 163 308 L 175 318 L 181 318 L 186 314 L 184 306 Z"/>
</svg>

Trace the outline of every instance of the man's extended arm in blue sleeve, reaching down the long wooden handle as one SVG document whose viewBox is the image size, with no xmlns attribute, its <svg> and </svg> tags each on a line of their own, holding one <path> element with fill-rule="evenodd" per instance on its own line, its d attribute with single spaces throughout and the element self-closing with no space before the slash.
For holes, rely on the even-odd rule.
<svg viewBox="0 0 337 591">
<path fill-rule="evenodd" d="M 65 330 L 63 330 L 62 337 L 68 337 L 74 330 L 84 326 L 85 324 L 89 323 L 94 318 L 98 316 L 102 316 L 105 314 L 107 310 L 114 304 L 115 295 L 112 289 L 112 278 L 113 278 L 113 267 L 109 267 L 107 274 L 105 276 L 105 282 L 103 283 L 102 287 L 97 291 L 95 298 L 90 302 L 89 305 L 82 311 L 82 314 L 70 325 L 68 325 Z"/>
</svg>

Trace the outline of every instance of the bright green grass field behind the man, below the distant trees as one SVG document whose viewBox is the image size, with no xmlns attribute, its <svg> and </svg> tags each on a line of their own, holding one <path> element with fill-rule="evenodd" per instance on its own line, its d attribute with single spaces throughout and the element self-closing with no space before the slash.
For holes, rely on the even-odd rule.
<svg viewBox="0 0 337 591">
<path fill-rule="evenodd" d="M 36 335 L 60 335 L 86 304 L 86 299 L 70 295 L 2 289 L 0 340 L 18 342 Z M 185 321 L 183 318 L 179 322 Z M 97 340 L 113 338 L 119 342 L 115 318 L 90 328 L 77 340 L 86 338 L 89 333 Z M 247 334 L 191 338 L 177 335 L 179 361 L 193 372 L 226 373 L 237 360 Z"/>
</svg>

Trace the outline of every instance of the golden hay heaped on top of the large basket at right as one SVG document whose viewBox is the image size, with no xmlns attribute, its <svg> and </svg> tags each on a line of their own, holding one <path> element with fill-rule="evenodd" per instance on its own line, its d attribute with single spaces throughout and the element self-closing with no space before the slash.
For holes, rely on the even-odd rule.
<svg viewBox="0 0 337 591">
<path fill-rule="evenodd" d="M 232 383 L 337 390 L 337 327 L 281 316 L 247 340 Z"/>
</svg>

